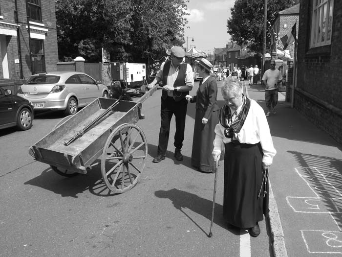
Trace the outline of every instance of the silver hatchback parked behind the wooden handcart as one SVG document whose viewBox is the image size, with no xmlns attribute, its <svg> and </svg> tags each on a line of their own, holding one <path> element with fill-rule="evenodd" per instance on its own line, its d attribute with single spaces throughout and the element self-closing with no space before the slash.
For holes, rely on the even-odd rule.
<svg viewBox="0 0 342 257">
<path fill-rule="evenodd" d="M 29 77 L 18 95 L 31 101 L 36 110 L 64 110 L 74 115 L 97 97 L 108 97 L 108 88 L 77 71 L 52 71 Z"/>
</svg>

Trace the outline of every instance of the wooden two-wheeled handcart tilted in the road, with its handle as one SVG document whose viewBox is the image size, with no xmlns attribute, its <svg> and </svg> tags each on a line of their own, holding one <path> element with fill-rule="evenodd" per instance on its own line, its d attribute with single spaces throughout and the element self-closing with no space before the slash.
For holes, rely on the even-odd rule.
<svg viewBox="0 0 342 257">
<path fill-rule="evenodd" d="M 30 155 L 67 177 L 86 174 L 101 164 L 108 189 L 114 193 L 128 191 L 137 184 L 148 153 L 144 132 L 135 123 L 144 118 L 142 103 L 156 89 L 137 102 L 95 99 L 58 123 L 30 148 Z"/>
</svg>

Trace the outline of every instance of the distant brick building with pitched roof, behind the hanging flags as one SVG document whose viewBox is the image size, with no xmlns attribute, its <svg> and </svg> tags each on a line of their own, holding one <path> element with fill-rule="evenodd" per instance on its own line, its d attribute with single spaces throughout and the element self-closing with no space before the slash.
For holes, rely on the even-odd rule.
<svg viewBox="0 0 342 257">
<path fill-rule="evenodd" d="M 281 38 L 285 36 L 289 31 L 291 31 L 292 26 L 297 22 L 299 24 L 299 4 L 296 4 L 290 8 L 278 12 L 274 23 L 272 24 L 272 34 L 271 37 L 271 52 L 277 52 L 277 47 L 283 49 L 283 44 Z M 291 58 L 294 57 L 294 46 L 291 44 L 286 48 L 289 50 Z"/>
</svg>

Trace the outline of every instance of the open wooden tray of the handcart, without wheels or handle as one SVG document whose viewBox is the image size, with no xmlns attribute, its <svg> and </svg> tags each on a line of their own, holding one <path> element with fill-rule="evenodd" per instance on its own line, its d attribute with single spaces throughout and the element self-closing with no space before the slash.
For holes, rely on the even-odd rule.
<svg viewBox="0 0 342 257">
<path fill-rule="evenodd" d="M 89 122 L 99 117 L 116 99 L 97 98 L 81 111 L 55 128 L 31 147 L 35 158 L 46 164 L 86 173 L 101 154 L 110 133 L 123 123 L 139 120 L 142 103 L 120 101 L 107 116 L 69 145 L 64 141 L 77 134 Z"/>
</svg>

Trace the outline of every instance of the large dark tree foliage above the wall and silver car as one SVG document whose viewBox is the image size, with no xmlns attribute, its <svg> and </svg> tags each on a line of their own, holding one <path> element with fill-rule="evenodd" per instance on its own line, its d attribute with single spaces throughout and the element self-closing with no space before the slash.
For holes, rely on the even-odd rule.
<svg viewBox="0 0 342 257">
<path fill-rule="evenodd" d="M 138 61 L 184 35 L 189 0 L 56 0 L 59 58 Z"/>
</svg>

